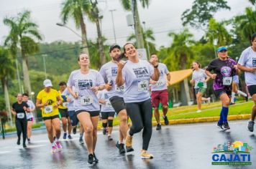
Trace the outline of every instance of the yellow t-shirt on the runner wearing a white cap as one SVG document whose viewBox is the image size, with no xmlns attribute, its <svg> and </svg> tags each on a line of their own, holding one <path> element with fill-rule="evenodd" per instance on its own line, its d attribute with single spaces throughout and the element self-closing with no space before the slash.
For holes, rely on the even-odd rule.
<svg viewBox="0 0 256 169">
<path fill-rule="evenodd" d="M 42 117 L 51 117 L 54 115 L 59 115 L 58 108 L 54 106 L 57 105 L 57 97 L 60 96 L 57 90 L 50 89 L 50 92 L 45 92 L 45 90 L 41 90 L 37 99 L 41 100 L 42 103 L 48 102 L 48 105 L 42 107 Z"/>
</svg>

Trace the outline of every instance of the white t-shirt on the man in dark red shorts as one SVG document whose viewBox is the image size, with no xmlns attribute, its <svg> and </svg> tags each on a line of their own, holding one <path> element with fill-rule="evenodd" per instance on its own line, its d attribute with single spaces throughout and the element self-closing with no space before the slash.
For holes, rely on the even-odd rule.
<svg viewBox="0 0 256 169">
<path fill-rule="evenodd" d="M 160 77 L 156 84 L 152 84 L 152 87 L 151 87 L 152 91 L 159 91 L 159 90 L 167 89 L 165 74 L 168 74 L 169 71 L 168 71 L 166 65 L 163 63 L 158 64 L 158 69 L 160 72 Z"/>
</svg>

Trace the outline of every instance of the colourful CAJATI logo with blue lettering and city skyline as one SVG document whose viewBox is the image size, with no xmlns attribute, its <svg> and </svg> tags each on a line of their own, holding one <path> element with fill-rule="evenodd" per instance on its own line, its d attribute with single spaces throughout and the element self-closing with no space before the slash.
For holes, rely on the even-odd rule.
<svg viewBox="0 0 256 169">
<path fill-rule="evenodd" d="M 252 165 L 252 146 L 241 141 L 226 142 L 214 147 L 212 152 L 212 165 Z"/>
</svg>

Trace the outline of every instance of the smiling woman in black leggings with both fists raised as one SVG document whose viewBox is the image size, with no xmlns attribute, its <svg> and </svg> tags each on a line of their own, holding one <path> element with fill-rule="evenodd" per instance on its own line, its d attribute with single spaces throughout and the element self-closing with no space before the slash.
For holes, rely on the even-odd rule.
<svg viewBox="0 0 256 169">
<path fill-rule="evenodd" d="M 150 77 L 158 81 L 159 70 L 155 58 L 151 58 L 152 65 L 140 60 L 134 44 L 124 44 L 124 54 L 128 57 L 127 62 L 119 62 L 116 84 L 118 87 L 124 85 L 124 102 L 127 113 L 132 120 L 132 127 L 127 132 L 126 146 L 132 147 L 132 136 L 143 129 L 141 158 L 153 158 L 147 152 L 152 135 L 152 105 L 150 92 L 148 90 Z"/>
</svg>

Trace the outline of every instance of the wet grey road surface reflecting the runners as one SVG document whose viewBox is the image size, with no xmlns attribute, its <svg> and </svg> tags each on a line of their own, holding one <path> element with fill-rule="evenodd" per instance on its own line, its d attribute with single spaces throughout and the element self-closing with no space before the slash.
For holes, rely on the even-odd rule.
<svg viewBox="0 0 256 169">
<path fill-rule="evenodd" d="M 16 145 L 17 137 L 7 137 L 0 140 L 0 168 L 256 168 L 256 132 L 247 131 L 245 120 L 232 121 L 229 125 L 231 130 L 226 132 L 219 130 L 215 122 L 162 126 L 160 131 L 153 127 L 151 160 L 140 158 L 142 132 L 134 135 L 134 152 L 120 155 L 115 147 L 117 130 L 112 133 L 112 141 L 100 131 L 96 165 L 87 165 L 86 145 L 78 143 L 79 133 L 73 135 L 73 140 L 61 140 L 63 150 L 53 154 L 45 131 L 32 135 L 32 144 L 27 144 L 27 148 Z M 228 141 L 251 145 L 252 165 L 211 165 L 213 148 Z"/>
</svg>

